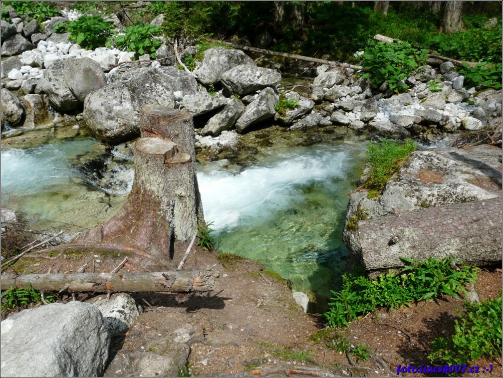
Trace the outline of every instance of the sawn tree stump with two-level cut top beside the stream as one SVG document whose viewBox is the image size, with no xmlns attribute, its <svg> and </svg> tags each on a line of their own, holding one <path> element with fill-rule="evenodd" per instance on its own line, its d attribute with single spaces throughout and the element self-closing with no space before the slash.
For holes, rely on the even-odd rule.
<svg viewBox="0 0 503 378">
<path fill-rule="evenodd" d="M 204 221 L 194 167 L 194 124 L 186 111 L 145 105 L 140 132 L 126 203 L 77 242 L 116 245 L 170 264 L 175 251 L 181 258 L 182 244 L 197 234 L 198 221 Z"/>
</svg>

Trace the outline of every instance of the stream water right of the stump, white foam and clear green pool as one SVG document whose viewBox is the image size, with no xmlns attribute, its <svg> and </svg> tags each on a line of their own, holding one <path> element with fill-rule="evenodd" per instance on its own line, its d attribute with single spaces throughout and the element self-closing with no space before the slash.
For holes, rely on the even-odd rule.
<svg viewBox="0 0 503 378">
<path fill-rule="evenodd" d="M 294 291 L 329 297 L 345 269 L 347 194 L 364 159 L 364 145 L 311 146 L 237 174 L 201 172 L 217 250 L 260 261 Z"/>
</svg>

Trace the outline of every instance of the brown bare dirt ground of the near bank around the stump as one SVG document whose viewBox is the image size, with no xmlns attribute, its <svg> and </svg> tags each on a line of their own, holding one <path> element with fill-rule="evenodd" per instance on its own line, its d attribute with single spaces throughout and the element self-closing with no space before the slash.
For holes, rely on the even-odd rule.
<svg viewBox="0 0 503 378">
<path fill-rule="evenodd" d="M 33 253 L 9 272 L 75 272 L 85 263 L 87 273 L 110 272 L 123 258 L 108 253 L 53 253 L 51 257 Z M 184 267 L 204 270 L 213 266 L 219 272 L 209 295 L 190 296 L 179 304 L 173 294 L 133 294 L 145 312 L 127 333 L 113 339 L 112 358 L 124 351 L 158 351 L 162 343 L 178 339 L 190 345 L 189 369 L 181 375 L 396 376 L 398 365 L 430 364 L 432 340 L 453 332 L 456 309 L 463 306 L 462 299 L 445 297 L 409 308 L 381 309 L 347 329 L 325 330 L 321 315 L 306 315 L 295 303 L 288 282 L 253 261 L 220 261 L 223 264 L 216 253 L 197 249 Z M 121 271 L 134 271 L 136 266 L 131 256 Z M 482 270 L 475 289 L 480 299 L 497 297 L 501 284 L 500 269 Z M 78 297 L 86 298 L 87 294 Z M 370 358 L 362 361 L 339 352 L 337 343 L 341 342 L 356 347 L 365 344 Z M 480 371 L 489 364 L 492 371 L 483 375 L 501 376 L 500 358 L 473 363 Z M 109 368 L 105 375 L 125 376 L 127 372 Z"/>
</svg>

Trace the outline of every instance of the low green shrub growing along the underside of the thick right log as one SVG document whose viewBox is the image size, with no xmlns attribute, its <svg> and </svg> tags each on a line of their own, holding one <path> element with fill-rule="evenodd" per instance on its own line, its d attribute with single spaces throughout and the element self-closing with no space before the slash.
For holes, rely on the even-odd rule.
<svg viewBox="0 0 503 378">
<path fill-rule="evenodd" d="M 452 268 L 453 259 L 448 257 L 423 262 L 402 260 L 410 265 L 399 274 L 381 274 L 373 281 L 363 275 L 345 274 L 342 289 L 331 290 L 333 296 L 324 314 L 328 325 L 348 325 L 379 307 L 394 309 L 443 294 L 458 297 L 459 292 L 466 292 L 463 286 L 477 277 L 475 268 L 463 266 L 459 271 Z"/>
</svg>

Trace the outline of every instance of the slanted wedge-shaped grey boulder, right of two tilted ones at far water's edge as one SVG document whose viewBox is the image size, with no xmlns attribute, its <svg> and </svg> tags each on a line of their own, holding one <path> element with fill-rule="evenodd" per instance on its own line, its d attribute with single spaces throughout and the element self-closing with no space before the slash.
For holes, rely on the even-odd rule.
<svg viewBox="0 0 503 378">
<path fill-rule="evenodd" d="M 236 122 L 236 130 L 242 133 L 250 125 L 273 118 L 276 114 L 274 105 L 279 96 L 272 88 L 262 90 L 255 101 L 251 102 Z"/>
</svg>

